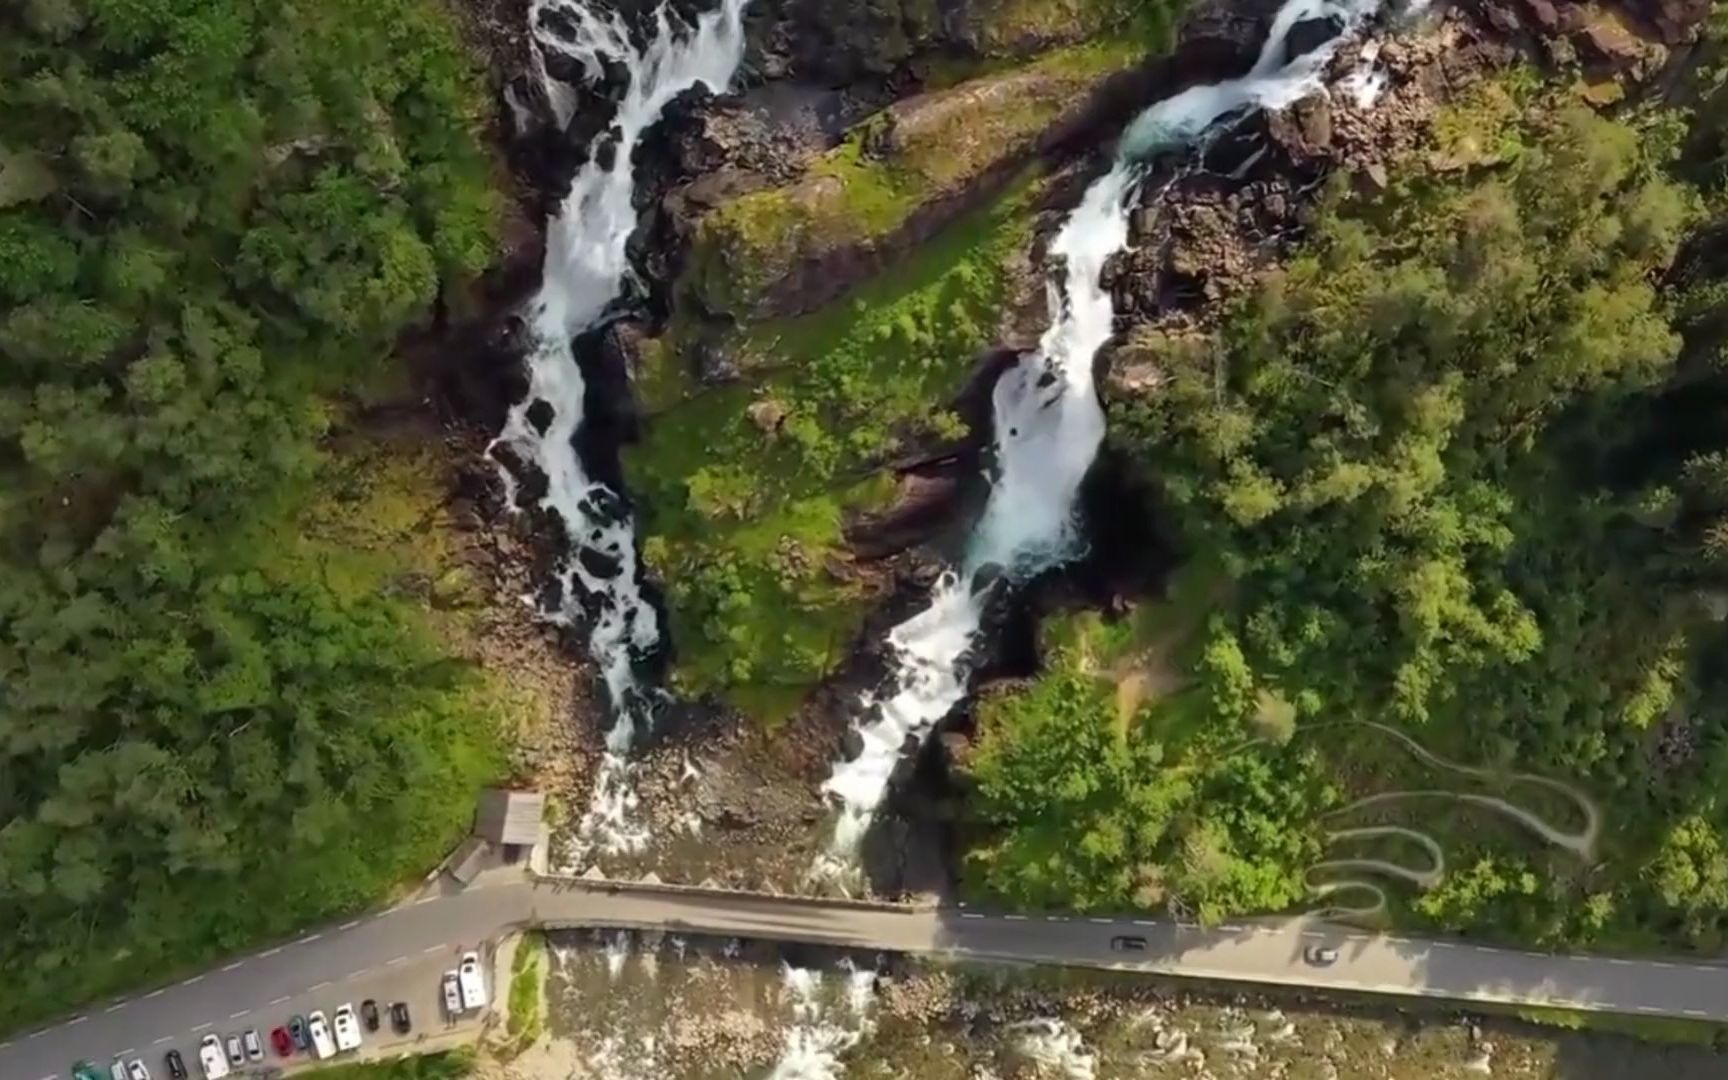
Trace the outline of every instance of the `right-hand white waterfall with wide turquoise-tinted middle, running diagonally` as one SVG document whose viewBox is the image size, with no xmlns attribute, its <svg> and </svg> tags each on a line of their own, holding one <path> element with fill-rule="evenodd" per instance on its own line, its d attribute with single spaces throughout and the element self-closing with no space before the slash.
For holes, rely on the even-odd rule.
<svg viewBox="0 0 1728 1080">
<path fill-rule="evenodd" d="M 1013 588 L 1035 577 L 1083 548 L 1075 503 L 1104 439 L 1092 363 L 1115 323 L 1115 306 L 1102 285 L 1104 263 L 1127 245 L 1142 161 L 1201 142 L 1220 119 L 1279 109 L 1308 95 L 1322 85 L 1337 45 L 1375 7 L 1377 0 L 1286 0 L 1249 73 L 1191 86 L 1147 107 L 1123 135 L 1111 171 L 1087 188 L 1063 225 L 1051 245 L 1063 273 L 1061 287 L 1049 285 L 1058 318 L 1039 349 L 995 385 L 995 480 L 983 517 L 966 558 L 938 582 L 930 607 L 888 634 L 897 689 L 859 726 L 859 755 L 836 762 L 823 785 L 840 804 L 840 821 L 816 876 L 845 880 L 855 871 L 859 843 L 907 740 L 921 741 L 966 696 L 969 653 L 990 591 L 1004 579 Z M 1343 33 L 1287 59 L 1291 29 L 1327 16 L 1344 22 Z M 995 572 L 985 574 L 992 567 Z"/>
</svg>

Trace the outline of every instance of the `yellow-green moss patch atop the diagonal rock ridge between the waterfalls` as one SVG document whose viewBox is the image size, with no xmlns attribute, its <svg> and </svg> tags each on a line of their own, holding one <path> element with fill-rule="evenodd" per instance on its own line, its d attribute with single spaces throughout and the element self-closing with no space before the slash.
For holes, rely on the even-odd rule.
<svg viewBox="0 0 1728 1080">
<path fill-rule="evenodd" d="M 771 313 L 776 283 L 831 252 L 876 247 L 919 207 L 1026 157 L 1099 78 L 1144 54 L 1139 35 L 1061 48 L 926 97 L 916 111 L 871 118 L 798 181 L 703 218 L 686 287 L 708 311 Z"/>
</svg>

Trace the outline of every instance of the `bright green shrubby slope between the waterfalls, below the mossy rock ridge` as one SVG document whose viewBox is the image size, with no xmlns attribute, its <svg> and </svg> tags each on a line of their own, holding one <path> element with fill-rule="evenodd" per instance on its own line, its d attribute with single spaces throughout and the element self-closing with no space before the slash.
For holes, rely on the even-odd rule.
<svg viewBox="0 0 1728 1080">
<path fill-rule="evenodd" d="M 838 662 L 869 598 L 842 525 L 890 494 L 878 465 L 957 434 L 938 403 L 995 337 L 1026 199 L 1018 185 L 847 299 L 734 337 L 750 377 L 689 391 L 627 451 L 686 689 L 772 719 Z"/>
</svg>

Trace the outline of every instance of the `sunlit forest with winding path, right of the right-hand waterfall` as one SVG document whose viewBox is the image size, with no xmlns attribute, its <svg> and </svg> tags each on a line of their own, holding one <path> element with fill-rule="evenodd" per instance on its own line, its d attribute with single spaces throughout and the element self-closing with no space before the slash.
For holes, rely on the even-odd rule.
<svg viewBox="0 0 1728 1080">
<path fill-rule="evenodd" d="M 1723 943 L 1721 93 L 1695 79 L 1612 118 L 1528 73 L 1486 83 L 1386 190 L 1334 183 L 1213 328 L 1137 330 L 1165 382 L 1111 441 L 1187 562 L 1130 619 L 1045 627 L 1049 672 L 980 708 L 978 888 L 1313 907 L 1363 876 L 1325 861 L 1424 869 L 1386 828 L 1415 826 L 1446 873 L 1341 905 Z"/>
</svg>

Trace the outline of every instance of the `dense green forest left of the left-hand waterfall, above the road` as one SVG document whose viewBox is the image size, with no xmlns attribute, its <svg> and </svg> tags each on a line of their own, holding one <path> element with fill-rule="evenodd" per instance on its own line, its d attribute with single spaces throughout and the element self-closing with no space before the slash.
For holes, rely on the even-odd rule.
<svg viewBox="0 0 1728 1080">
<path fill-rule="evenodd" d="M 491 256 L 430 0 L 0 14 L 0 1026 L 377 900 L 498 769 L 337 394 Z"/>
</svg>

